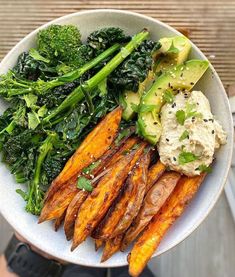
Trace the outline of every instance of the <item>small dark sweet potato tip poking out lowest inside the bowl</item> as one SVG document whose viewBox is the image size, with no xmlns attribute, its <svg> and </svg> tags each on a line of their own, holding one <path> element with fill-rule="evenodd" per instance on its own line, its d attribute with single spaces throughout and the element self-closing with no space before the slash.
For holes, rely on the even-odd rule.
<svg viewBox="0 0 235 277">
<path fill-rule="evenodd" d="M 101 257 L 101 263 L 107 261 L 113 254 L 118 252 L 121 247 L 123 235 L 118 235 L 115 238 L 105 241 L 103 254 Z"/>
</svg>

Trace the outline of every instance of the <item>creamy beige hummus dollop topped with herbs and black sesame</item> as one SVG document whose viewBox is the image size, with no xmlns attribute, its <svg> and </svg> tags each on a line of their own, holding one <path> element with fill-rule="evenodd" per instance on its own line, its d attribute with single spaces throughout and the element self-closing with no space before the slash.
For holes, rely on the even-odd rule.
<svg viewBox="0 0 235 277">
<path fill-rule="evenodd" d="M 201 91 L 180 92 L 161 110 L 160 160 L 171 170 L 199 175 L 213 161 L 216 148 L 226 143 L 226 134 L 211 113 Z"/>
</svg>

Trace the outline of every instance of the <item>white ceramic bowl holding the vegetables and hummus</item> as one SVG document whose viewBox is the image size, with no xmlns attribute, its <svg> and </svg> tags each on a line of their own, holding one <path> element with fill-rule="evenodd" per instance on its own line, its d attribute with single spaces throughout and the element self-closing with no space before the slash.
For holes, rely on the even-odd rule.
<svg viewBox="0 0 235 277">
<path fill-rule="evenodd" d="M 147 27 L 151 32 L 151 38 L 154 40 L 179 34 L 172 27 L 150 17 L 109 9 L 69 14 L 51 21 L 39 29 L 52 23 L 77 25 L 81 30 L 83 39 L 90 32 L 107 26 L 119 26 L 129 34 L 137 33 L 142 28 Z M 0 64 L 1 74 L 14 66 L 21 52 L 34 46 L 39 29 L 27 35 L 8 53 Z M 206 59 L 194 44 L 192 44 L 191 58 Z M 209 174 L 185 213 L 164 237 L 155 256 L 180 243 L 202 223 L 215 205 L 230 167 L 233 146 L 232 118 L 225 90 L 212 66 L 198 83 L 197 89 L 202 90 L 209 98 L 213 113 L 228 133 L 227 144 L 216 153 L 213 173 Z M 0 111 L 2 112 L 4 108 L 4 104 L 1 102 Z M 25 202 L 15 193 L 16 188 L 24 186 L 16 184 L 9 170 L 2 163 L 0 164 L 0 176 L 0 211 L 12 227 L 33 245 L 57 258 L 85 266 L 115 267 L 127 264 L 128 251 L 117 253 L 107 262 L 101 264 L 101 252 L 94 251 L 94 245 L 90 239 L 80 245 L 74 252 L 71 252 L 70 242 L 66 241 L 63 229 L 55 233 L 51 222 L 38 225 L 37 217 L 25 212 Z"/>
</svg>

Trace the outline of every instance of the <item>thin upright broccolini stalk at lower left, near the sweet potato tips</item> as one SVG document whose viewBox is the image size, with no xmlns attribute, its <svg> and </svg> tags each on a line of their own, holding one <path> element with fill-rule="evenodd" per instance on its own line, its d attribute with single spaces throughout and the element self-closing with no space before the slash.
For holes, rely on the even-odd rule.
<svg viewBox="0 0 235 277">
<path fill-rule="evenodd" d="M 53 148 L 53 141 L 56 134 L 51 133 L 39 147 L 39 155 L 36 161 L 34 177 L 29 185 L 28 203 L 26 211 L 39 215 L 42 207 L 43 192 L 39 188 L 42 163 L 44 162 L 48 152 Z"/>
</svg>

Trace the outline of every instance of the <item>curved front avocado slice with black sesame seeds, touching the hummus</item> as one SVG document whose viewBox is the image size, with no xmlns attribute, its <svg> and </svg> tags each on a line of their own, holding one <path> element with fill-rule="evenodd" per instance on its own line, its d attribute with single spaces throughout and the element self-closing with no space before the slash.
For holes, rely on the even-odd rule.
<svg viewBox="0 0 235 277">
<path fill-rule="evenodd" d="M 164 93 L 189 91 L 209 66 L 208 61 L 190 60 L 163 73 L 141 98 L 138 112 L 138 133 L 155 145 L 161 136 L 159 113 L 164 105 Z"/>
</svg>

